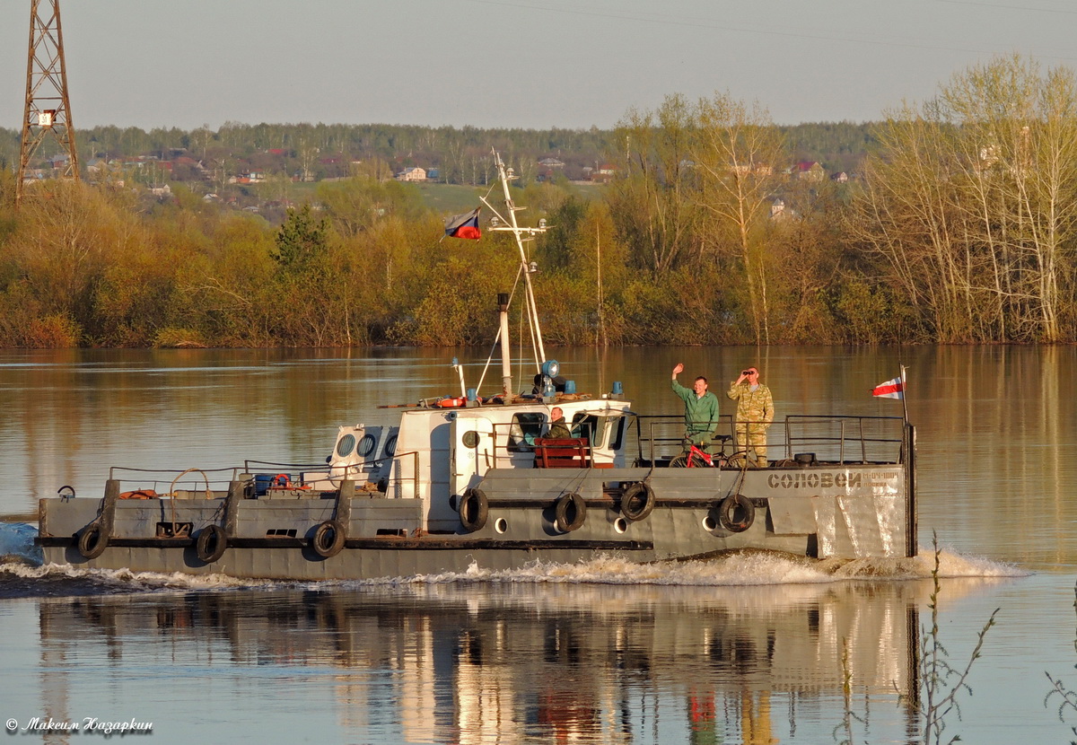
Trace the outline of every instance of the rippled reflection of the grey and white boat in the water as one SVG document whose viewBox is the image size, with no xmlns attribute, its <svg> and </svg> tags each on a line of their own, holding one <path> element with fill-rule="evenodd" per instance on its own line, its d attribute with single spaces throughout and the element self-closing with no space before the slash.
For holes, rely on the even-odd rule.
<svg viewBox="0 0 1077 745">
<path fill-rule="evenodd" d="M 908 581 L 454 582 L 43 599 L 43 683 L 69 701 L 47 662 L 75 658 L 256 676 L 260 726 L 283 726 L 274 702 L 298 695 L 325 742 L 777 743 L 829 742 L 848 673 L 857 727 L 904 741 L 923 594 Z M 207 692 L 169 688 L 166 717 L 197 718 Z M 64 705 L 52 716 L 78 715 Z"/>
</svg>

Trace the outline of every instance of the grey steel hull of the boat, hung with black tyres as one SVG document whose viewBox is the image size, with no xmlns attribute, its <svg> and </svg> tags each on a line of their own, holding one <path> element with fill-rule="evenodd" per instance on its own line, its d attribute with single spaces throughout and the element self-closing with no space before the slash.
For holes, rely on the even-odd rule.
<svg viewBox="0 0 1077 745">
<path fill-rule="evenodd" d="M 640 482 L 653 490 L 653 509 L 629 520 L 623 496 Z M 506 468 L 489 472 L 479 486 L 488 516 L 473 532 L 425 533 L 422 501 L 415 498 L 240 498 L 226 517 L 228 500 L 218 492 L 213 498 L 116 500 L 107 546 L 95 558 L 80 550 L 79 537 L 101 521 L 106 501 L 42 500 L 38 542 L 46 562 L 76 567 L 294 580 L 500 571 L 599 556 L 652 562 L 743 549 L 839 559 L 915 552 L 911 490 L 905 468 L 895 464 L 743 472 Z M 586 515 L 564 532 L 557 504 L 570 492 L 586 504 Z M 754 516 L 746 526 L 730 529 L 719 512 L 737 494 L 751 502 Z M 342 549 L 321 556 L 312 545 L 318 526 L 341 516 Z M 173 523 L 187 524 L 186 533 L 162 535 L 160 526 Z M 196 540 L 209 525 L 226 526 L 227 548 L 204 561 Z"/>
</svg>

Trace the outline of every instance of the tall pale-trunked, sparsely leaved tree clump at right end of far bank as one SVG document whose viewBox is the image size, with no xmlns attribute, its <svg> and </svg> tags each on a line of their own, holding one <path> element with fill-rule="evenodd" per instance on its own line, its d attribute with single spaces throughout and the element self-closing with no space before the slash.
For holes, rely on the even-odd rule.
<svg viewBox="0 0 1077 745">
<path fill-rule="evenodd" d="M 941 341 L 1065 335 L 1077 249 L 1077 83 L 1013 55 L 879 131 L 850 228 Z"/>
</svg>

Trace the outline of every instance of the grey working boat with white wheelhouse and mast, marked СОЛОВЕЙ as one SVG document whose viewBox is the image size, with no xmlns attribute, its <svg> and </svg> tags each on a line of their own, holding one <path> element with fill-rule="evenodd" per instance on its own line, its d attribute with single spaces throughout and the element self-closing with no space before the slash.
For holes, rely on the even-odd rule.
<svg viewBox="0 0 1077 745">
<path fill-rule="evenodd" d="M 602 556 L 707 560 L 767 550 L 814 559 L 917 553 L 915 431 L 905 417 L 791 414 L 781 458 L 687 462 L 680 416 L 632 410 L 619 382 L 598 394 L 546 356 L 515 175 L 494 153 L 504 207 L 491 229 L 519 251 L 500 294 L 501 389 L 467 388 L 400 409 L 398 423 L 340 426 L 320 464 L 249 460 L 215 468 L 113 467 L 103 495 L 40 500 L 44 561 L 82 568 L 320 580 L 513 570 Z M 534 377 L 515 383 L 508 310 L 522 296 Z M 522 345 L 521 345 L 522 347 Z M 488 361 L 494 363 L 493 354 Z M 484 374 L 485 379 L 485 374 Z M 522 390 L 518 390 L 522 388 Z M 569 438 L 544 437 L 559 407 Z M 733 439 L 729 416 L 714 439 Z M 677 467 L 679 464 L 689 467 Z"/>
</svg>

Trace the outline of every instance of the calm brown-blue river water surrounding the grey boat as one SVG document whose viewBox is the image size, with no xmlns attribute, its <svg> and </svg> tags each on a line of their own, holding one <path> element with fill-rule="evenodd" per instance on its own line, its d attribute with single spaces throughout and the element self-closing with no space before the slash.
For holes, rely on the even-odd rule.
<svg viewBox="0 0 1077 745">
<path fill-rule="evenodd" d="M 50 743 L 150 722 L 159 743 L 920 742 L 938 556 L 938 639 L 954 669 L 998 609 L 943 741 L 1074 737 L 1077 711 L 1060 718 L 1048 675 L 1077 689 L 1077 350 L 550 351 L 579 391 L 619 381 L 640 413 L 680 410 L 667 381 L 684 362 L 682 380 L 708 376 L 724 411 L 729 380 L 758 365 L 779 417 L 899 416 L 901 402 L 869 391 L 907 365 L 919 563 L 833 574 L 761 554 L 604 559 L 296 585 L 10 560 L 9 731 Z M 485 354 L 457 353 L 476 386 Z M 112 465 L 324 460 L 338 424 L 392 424 L 396 410 L 379 405 L 459 391 L 452 354 L 0 353 L 0 554 L 29 552 L 39 497 L 64 484 L 97 496 Z M 499 379 L 491 368 L 480 392 Z"/>
</svg>

